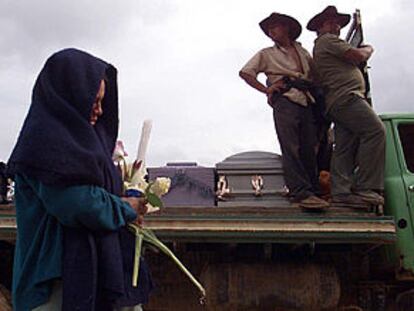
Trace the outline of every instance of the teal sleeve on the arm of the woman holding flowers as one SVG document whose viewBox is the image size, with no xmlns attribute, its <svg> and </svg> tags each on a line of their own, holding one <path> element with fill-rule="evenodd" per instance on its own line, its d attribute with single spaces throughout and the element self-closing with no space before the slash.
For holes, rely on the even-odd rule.
<svg viewBox="0 0 414 311">
<path fill-rule="evenodd" d="M 127 202 L 101 187 L 56 187 L 30 181 L 47 212 L 65 226 L 116 230 L 137 218 Z"/>
</svg>

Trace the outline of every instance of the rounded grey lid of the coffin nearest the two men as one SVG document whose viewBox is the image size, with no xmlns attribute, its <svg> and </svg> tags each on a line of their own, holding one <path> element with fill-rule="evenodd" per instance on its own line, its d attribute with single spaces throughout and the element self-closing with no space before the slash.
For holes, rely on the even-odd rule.
<svg viewBox="0 0 414 311">
<path fill-rule="evenodd" d="M 266 151 L 247 151 L 232 155 L 216 164 L 220 170 L 282 170 L 282 157 Z"/>
</svg>

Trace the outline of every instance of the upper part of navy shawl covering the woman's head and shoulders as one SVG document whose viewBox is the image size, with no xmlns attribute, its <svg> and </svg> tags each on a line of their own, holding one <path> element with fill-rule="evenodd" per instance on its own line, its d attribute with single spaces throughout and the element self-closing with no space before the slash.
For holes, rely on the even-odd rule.
<svg viewBox="0 0 414 311">
<path fill-rule="evenodd" d="M 118 134 L 116 75 L 115 67 L 83 51 L 53 54 L 33 88 L 9 173 L 45 184 L 111 188 L 106 179 L 114 175 L 111 155 Z M 89 118 L 102 79 L 107 81 L 104 112 L 92 126 Z"/>
</svg>

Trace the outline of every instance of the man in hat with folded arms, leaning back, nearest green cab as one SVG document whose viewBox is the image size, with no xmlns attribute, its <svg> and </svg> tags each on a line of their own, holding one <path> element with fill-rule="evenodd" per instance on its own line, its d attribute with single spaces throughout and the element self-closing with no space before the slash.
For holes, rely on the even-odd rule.
<svg viewBox="0 0 414 311">
<path fill-rule="evenodd" d="M 325 90 L 326 113 L 335 124 L 332 196 L 337 202 L 383 204 L 378 192 L 383 189 L 385 129 L 365 99 L 358 68 L 373 48 L 354 48 L 339 38 L 349 20 L 349 14 L 328 6 L 307 25 L 318 35 L 313 58 Z"/>
</svg>

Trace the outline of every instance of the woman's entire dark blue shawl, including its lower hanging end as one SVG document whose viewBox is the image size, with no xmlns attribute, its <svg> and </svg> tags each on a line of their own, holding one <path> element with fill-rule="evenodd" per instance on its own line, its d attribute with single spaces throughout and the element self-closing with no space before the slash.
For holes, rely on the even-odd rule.
<svg viewBox="0 0 414 311">
<path fill-rule="evenodd" d="M 32 104 L 8 163 L 10 175 L 26 174 L 49 185 L 97 185 L 120 195 L 111 155 L 118 134 L 115 67 L 90 54 L 66 49 L 40 72 Z M 89 123 L 100 81 L 103 115 Z M 133 236 L 119 232 L 64 230 L 63 310 L 112 310 L 145 303 L 151 280 L 145 262 L 138 288 L 131 287 Z"/>
</svg>

